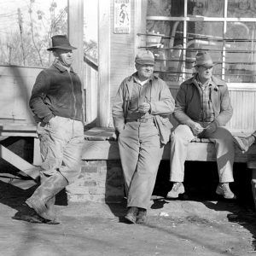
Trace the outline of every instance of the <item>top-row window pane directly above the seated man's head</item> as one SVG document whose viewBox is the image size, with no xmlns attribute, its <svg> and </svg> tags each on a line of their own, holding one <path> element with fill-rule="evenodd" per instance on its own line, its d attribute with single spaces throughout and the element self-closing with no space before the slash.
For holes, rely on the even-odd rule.
<svg viewBox="0 0 256 256">
<path fill-rule="evenodd" d="M 188 0 L 188 16 L 224 17 L 224 0 Z"/>
</svg>

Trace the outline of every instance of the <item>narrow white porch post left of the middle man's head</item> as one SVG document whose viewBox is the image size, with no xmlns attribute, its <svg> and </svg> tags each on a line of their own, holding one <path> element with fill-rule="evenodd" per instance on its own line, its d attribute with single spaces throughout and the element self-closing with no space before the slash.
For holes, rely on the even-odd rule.
<svg viewBox="0 0 256 256">
<path fill-rule="evenodd" d="M 110 0 L 98 0 L 98 126 L 108 127 L 110 116 Z"/>
</svg>

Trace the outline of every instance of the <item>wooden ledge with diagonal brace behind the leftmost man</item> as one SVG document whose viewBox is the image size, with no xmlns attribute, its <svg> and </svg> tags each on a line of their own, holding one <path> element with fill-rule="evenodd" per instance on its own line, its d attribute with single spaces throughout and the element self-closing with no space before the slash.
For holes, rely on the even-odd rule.
<svg viewBox="0 0 256 256">
<path fill-rule="evenodd" d="M 36 179 L 38 177 L 38 169 L 41 163 L 39 139 L 36 133 L 35 125 L 20 125 L 15 123 L 0 124 L 0 157 L 8 161 L 12 166 L 15 166 L 20 171 L 25 172 L 26 175 Z M 4 146 L 3 142 L 8 137 L 32 137 L 33 138 L 33 163 L 29 163 L 15 154 L 9 148 Z"/>
</svg>

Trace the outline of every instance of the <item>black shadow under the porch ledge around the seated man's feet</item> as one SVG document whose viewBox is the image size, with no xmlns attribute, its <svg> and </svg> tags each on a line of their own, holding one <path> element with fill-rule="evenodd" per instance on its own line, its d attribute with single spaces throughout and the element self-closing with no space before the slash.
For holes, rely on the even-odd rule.
<svg viewBox="0 0 256 256">
<path fill-rule="evenodd" d="M 169 161 L 162 161 L 154 187 L 154 195 L 166 197 L 172 189 L 169 183 Z M 241 224 L 253 235 L 252 247 L 256 251 L 256 213 L 251 190 L 251 171 L 246 164 L 235 163 L 234 183 L 230 189 L 236 194 L 236 200 L 224 200 L 215 193 L 218 185 L 217 164 L 215 162 L 186 162 L 184 187 L 185 194 L 179 200 L 201 201 L 206 207 L 214 211 L 226 211 L 230 222 Z M 212 201 L 217 201 L 213 203 Z M 165 200 L 155 201 L 152 208 L 163 207 Z"/>
</svg>

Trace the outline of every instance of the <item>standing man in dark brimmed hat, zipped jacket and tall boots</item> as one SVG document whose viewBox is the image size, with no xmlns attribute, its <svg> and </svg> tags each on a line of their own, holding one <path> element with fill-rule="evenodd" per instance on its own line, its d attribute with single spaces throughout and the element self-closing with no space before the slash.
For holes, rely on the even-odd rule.
<svg viewBox="0 0 256 256">
<path fill-rule="evenodd" d="M 84 143 L 82 84 L 73 72 L 73 47 L 66 35 L 52 37 L 55 61 L 38 74 L 29 106 L 38 122 L 40 186 L 26 200 L 43 223 L 58 224 L 55 195 L 79 176 Z"/>
</svg>

